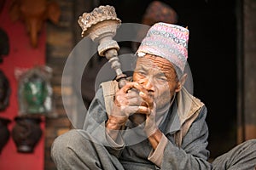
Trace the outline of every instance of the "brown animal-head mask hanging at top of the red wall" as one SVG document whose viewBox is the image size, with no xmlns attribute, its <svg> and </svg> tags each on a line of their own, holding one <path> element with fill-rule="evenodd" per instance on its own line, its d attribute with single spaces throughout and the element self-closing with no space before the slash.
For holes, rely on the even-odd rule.
<svg viewBox="0 0 256 170">
<path fill-rule="evenodd" d="M 9 8 L 12 20 L 22 20 L 33 48 L 38 46 L 38 33 L 46 20 L 57 24 L 61 9 L 55 2 L 47 0 L 13 0 Z"/>
</svg>

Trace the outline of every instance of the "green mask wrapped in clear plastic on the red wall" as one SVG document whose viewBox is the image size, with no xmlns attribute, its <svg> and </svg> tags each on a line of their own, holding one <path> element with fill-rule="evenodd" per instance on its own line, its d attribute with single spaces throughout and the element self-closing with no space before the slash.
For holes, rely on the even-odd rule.
<svg viewBox="0 0 256 170">
<path fill-rule="evenodd" d="M 49 67 L 35 67 L 23 73 L 19 80 L 19 113 L 44 114 L 53 110 Z"/>
</svg>

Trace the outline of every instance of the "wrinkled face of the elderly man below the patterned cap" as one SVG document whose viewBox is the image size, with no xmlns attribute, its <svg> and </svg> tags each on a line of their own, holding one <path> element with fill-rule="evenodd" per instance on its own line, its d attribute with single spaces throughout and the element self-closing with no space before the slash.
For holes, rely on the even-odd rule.
<svg viewBox="0 0 256 170">
<path fill-rule="evenodd" d="M 150 54 L 138 57 L 133 81 L 154 94 L 157 110 L 169 105 L 175 92 L 180 90 L 173 65 L 166 59 Z"/>
</svg>

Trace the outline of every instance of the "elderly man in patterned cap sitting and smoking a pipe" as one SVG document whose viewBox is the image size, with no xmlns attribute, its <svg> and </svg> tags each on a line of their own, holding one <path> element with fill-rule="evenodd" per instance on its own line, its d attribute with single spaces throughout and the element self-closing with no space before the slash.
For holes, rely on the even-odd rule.
<svg viewBox="0 0 256 170">
<path fill-rule="evenodd" d="M 154 24 L 137 50 L 132 81 L 122 88 L 115 81 L 103 82 L 84 129 L 55 139 L 56 167 L 212 169 L 207 108 L 183 87 L 188 40 L 189 31 L 182 26 Z M 252 168 L 252 147 L 255 140 L 237 146 L 213 162 L 213 168 Z M 237 163 L 242 159 L 244 164 Z"/>
</svg>

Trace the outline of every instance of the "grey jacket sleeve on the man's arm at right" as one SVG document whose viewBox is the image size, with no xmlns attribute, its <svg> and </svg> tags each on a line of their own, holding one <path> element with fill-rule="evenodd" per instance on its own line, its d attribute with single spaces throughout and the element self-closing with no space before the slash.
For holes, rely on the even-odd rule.
<svg viewBox="0 0 256 170">
<path fill-rule="evenodd" d="M 192 123 L 188 133 L 183 138 L 181 148 L 169 140 L 164 150 L 161 169 L 212 169 L 207 161 L 208 127 L 206 123 L 207 108 L 202 107 L 195 122 Z M 167 137 L 169 139 L 169 137 Z M 171 138 L 171 137 L 170 137 Z"/>
</svg>

